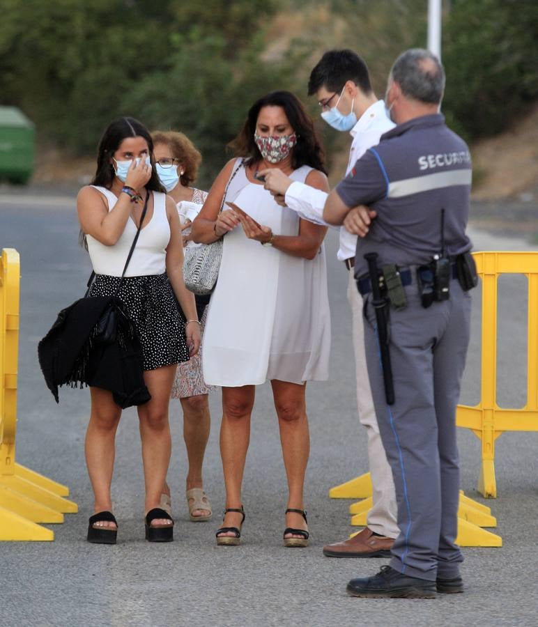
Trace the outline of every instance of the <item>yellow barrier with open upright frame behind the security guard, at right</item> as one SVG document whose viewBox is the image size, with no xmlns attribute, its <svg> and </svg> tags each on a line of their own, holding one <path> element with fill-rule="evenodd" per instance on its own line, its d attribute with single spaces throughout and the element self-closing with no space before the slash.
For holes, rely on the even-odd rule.
<svg viewBox="0 0 538 627">
<path fill-rule="evenodd" d="M 477 489 L 487 498 L 497 496 L 495 440 L 504 431 L 538 431 L 538 253 L 475 253 L 482 277 L 482 394 L 476 407 L 459 405 L 458 426 L 472 429 L 482 440 L 482 464 Z M 500 274 L 528 278 L 527 403 L 522 409 L 497 405 L 497 279 Z"/>
</svg>

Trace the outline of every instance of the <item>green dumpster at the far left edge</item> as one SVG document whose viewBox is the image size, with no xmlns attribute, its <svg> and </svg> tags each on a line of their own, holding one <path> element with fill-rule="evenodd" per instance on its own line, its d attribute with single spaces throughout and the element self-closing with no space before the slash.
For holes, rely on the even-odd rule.
<svg viewBox="0 0 538 627">
<path fill-rule="evenodd" d="M 0 179 L 27 183 L 33 172 L 33 122 L 17 107 L 0 107 Z"/>
</svg>

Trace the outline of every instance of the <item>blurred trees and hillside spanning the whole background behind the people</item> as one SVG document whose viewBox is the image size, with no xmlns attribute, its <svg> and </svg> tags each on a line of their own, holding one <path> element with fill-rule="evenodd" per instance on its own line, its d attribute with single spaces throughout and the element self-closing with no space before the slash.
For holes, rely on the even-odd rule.
<svg viewBox="0 0 538 627">
<path fill-rule="evenodd" d="M 112 118 L 187 132 L 204 183 L 250 104 L 272 89 L 306 98 L 326 49 L 351 47 L 378 96 L 394 58 L 424 45 L 425 0 L 0 0 L 0 104 L 40 141 L 93 153 Z M 468 139 L 502 130 L 538 97 L 536 0 L 445 3 L 443 110 Z M 321 124 L 329 153 L 344 134 Z"/>
</svg>

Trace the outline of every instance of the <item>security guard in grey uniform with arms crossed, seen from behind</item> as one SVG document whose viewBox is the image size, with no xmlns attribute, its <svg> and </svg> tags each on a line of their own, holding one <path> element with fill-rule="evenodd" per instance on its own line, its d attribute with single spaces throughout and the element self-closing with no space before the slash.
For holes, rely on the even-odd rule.
<svg viewBox="0 0 538 627">
<path fill-rule="evenodd" d="M 323 210 L 326 222 L 367 233 L 355 277 L 400 529 L 390 566 L 349 582 L 353 596 L 463 591 L 455 416 L 469 341 L 467 291 L 477 279 L 465 232 L 470 155 L 439 113 L 444 86 L 436 56 L 423 49 L 399 56 L 385 97 L 397 127 L 358 160 Z M 351 210 L 358 205 L 376 217 Z"/>
</svg>

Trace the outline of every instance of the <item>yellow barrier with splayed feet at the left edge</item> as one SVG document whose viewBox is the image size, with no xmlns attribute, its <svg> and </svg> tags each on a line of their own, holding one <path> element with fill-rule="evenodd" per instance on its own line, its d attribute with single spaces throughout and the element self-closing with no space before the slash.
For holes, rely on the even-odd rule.
<svg viewBox="0 0 538 627">
<path fill-rule="evenodd" d="M 69 489 L 15 463 L 20 259 L 16 250 L 0 257 L 0 540 L 54 540 L 38 522 L 63 522 L 77 504 Z"/>
</svg>

